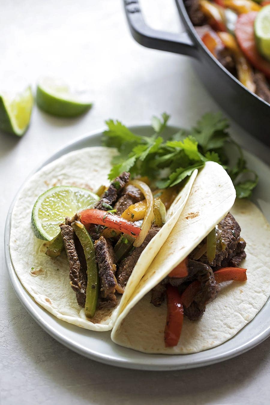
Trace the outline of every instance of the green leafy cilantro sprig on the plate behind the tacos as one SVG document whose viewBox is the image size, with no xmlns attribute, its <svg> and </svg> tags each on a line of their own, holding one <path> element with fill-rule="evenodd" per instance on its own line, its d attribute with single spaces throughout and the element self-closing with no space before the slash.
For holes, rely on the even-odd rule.
<svg viewBox="0 0 270 405">
<path fill-rule="evenodd" d="M 239 198 L 251 196 L 257 174 L 247 168 L 242 149 L 227 132 L 229 123 L 221 113 L 206 113 L 193 128 L 181 129 L 167 139 L 161 134 L 169 118 L 166 113 L 161 118 L 154 116 L 150 136 L 134 134 L 119 121 L 106 121 L 103 144 L 119 151 L 112 161 L 110 180 L 129 171 L 132 177 L 148 176 L 156 187 L 167 188 L 181 183 L 194 169 L 211 160 L 227 170 Z M 227 154 L 232 147 L 238 154 L 235 164 Z"/>
</svg>

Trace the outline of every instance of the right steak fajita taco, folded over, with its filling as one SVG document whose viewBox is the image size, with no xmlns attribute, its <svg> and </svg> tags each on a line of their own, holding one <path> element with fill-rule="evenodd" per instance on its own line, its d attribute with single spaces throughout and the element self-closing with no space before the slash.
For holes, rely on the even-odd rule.
<svg viewBox="0 0 270 405">
<path fill-rule="evenodd" d="M 199 172 L 166 243 L 121 305 L 115 343 L 146 353 L 200 352 L 230 339 L 266 303 L 269 224 L 249 200 L 230 198 L 222 211 L 225 189 L 217 189 L 213 169 L 207 162 Z"/>
</svg>

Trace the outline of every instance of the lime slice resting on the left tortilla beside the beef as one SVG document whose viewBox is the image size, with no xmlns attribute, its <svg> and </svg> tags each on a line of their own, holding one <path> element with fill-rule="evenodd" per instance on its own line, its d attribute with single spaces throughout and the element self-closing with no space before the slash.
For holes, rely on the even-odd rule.
<svg viewBox="0 0 270 405">
<path fill-rule="evenodd" d="M 82 209 L 93 208 L 99 197 L 89 190 L 57 186 L 41 194 L 32 210 L 32 228 L 38 239 L 51 241 L 59 233 L 59 224 Z"/>
</svg>

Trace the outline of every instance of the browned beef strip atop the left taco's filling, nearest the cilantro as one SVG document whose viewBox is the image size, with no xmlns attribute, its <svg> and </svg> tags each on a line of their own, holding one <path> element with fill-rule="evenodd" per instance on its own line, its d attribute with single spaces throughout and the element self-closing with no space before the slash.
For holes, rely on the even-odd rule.
<svg viewBox="0 0 270 405">
<path fill-rule="evenodd" d="M 108 190 L 106 190 L 98 203 L 96 204 L 95 208 L 96 209 L 102 209 L 103 211 L 108 211 L 112 209 L 112 207 L 115 205 L 117 198 L 119 197 L 121 191 L 125 187 L 125 185 L 128 183 L 130 179 L 130 173 L 123 172 L 119 177 L 116 177 L 114 181 L 111 182 L 111 184 L 108 187 Z M 109 205 L 110 207 L 107 207 Z"/>
</svg>

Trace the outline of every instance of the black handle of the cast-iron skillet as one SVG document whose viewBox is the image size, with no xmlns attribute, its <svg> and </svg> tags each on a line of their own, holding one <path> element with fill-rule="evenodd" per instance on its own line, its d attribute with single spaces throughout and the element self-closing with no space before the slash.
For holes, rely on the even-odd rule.
<svg viewBox="0 0 270 405">
<path fill-rule="evenodd" d="M 147 48 L 159 49 L 198 58 L 198 51 L 187 32 L 175 34 L 154 30 L 145 23 L 139 0 L 124 0 L 125 13 L 133 38 Z"/>
</svg>

